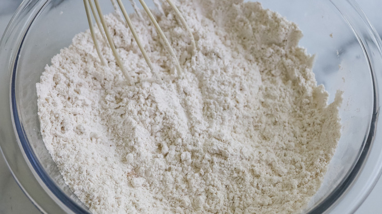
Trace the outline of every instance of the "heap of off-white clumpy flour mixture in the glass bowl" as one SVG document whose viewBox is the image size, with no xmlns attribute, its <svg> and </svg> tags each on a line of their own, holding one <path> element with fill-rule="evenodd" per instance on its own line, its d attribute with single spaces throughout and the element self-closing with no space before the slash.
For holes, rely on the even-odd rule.
<svg viewBox="0 0 382 214">
<path fill-rule="evenodd" d="M 180 0 L 197 51 L 165 4 L 158 14 L 184 75 L 148 18 L 133 16 L 155 75 L 124 23 L 107 16 L 136 82 L 126 85 L 89 31 L 36 85 L 41 133 L 66 183 L 94 213 L 294 213 L 318 190 L 340 137 L 296 24 L 259 3 Z M 98 33 L 100 39 L 100 34 Z"/>
</svg>

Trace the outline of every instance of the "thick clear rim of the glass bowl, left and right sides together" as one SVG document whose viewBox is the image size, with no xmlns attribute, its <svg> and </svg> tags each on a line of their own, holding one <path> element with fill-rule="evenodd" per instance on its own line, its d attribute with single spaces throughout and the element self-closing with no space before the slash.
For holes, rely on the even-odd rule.
<svg viewBox="0 0 382 214">
<path fill-rule="evenodd" d="M 38 17 L 41 11 L 45 9 L 48 1 L 49 0 L 39 0 L 34 2 L 33 0 L 23 1 L 9 22 L 0 41 L 0 65 L 7 65 L 7 77 L 9 77 L 9 79 L 3 78 L 4 80 L 0 80 L 0 97 L 9 98 L 7 102 L 1 102 L 4 104 L 7 103 L 8 105 L 7 109 L 9 109 L 9 115 L 7 115 L 5 118 L 6 122 L 8 122 L 6 123 L 8 124 L 8 127 L 4 128 L 5 125 L 3 124 L 5 123 L 2 123 L 0 128 L 3 130 L 12 130 L 11 133 L 14 133 L 14 136 L 9 137 L 8 140 L 0 140 L 0 150 L 3 153 L 7 166 L 12 172 L 12 175 L 17 181 L 18 185 L 28 196 L 28 198 L 42 212 L 47 212 L 50 210 L 48 206 L 44 204 L 49 197 L 51 200 L 48 200 L 48 202 L 54 202 L 58 205 L 56 208 L 61 208 L 64 212 L 89 213 L 88 210 L 84 209 L 82 206 L 79 206 L 68 195 L 63 193 L 61 188 L 55 184 L 55 182 L 49 177 L 48 173 L 44 170 L 42 165 L 37 161 L 38 159 L 30 147 L 23 125 L 20 122 L 19 112 L 16 104 L 15 85 L 19 54 L 31 24 Z M 375 143 L 375 139 L 380 138 L 380 134 L 377 133 L 377 126 L 380 123 L 378 120 L 380 107 L 379 92 L 381 92 L 382 89 L 378 85 L 378 80 L 382 80 L 382 78 L 381 74 L 378 73 L 380 67 L 374 66 L 376 63 L 373 62 L 375 61 L 382 63 L 382 41 L 370 22 L 367 20 L 365 14 L 362 12 L 354 0 L 330 0 L 330 2 L 332 2 L 332 4 L 339 10 L 339 12 L 342 13 L 343 18 L 353 29 L 354 33 L 358 37 L 358 42 L 362 46 L 368 59 L 374 90 L 373 115 L 369 132 L 366 136 L 366 140 L 364 141 L 364 149 L 360 153 L 353 169 L 348 172 L 348 175 L 343 178 L 343 180 L 337 185 L 336 188 L 334 188 L 334 190 L 332 190 L 329 195 L 327 195 L 321 201 L 316 203 L 314 207 L 307 211 L 309 214 L 329 212 L 330 210 L 333 210 L 341 200 L 344 198 L 346 199 L 345 193 L 349 192 L 349 189 L 356 185 L 357 180 L 359 181 L 359 174 L 364 170 L 365 163 L 370 159 L 372 148 L 374 149 L 376 145 L 381 147 L 381 143 Z M 358 19 L 356 19 L 356 17 L 358 17 Z M 358 21 L 360 21 L 359 23 L 362 23 L 363 25 L 358 26 Z M 366 41 L 362 35 L 359 35 L 360 31 L 368 32 L 368 36 L 371 38 L 373 43 Z M 372 44 L 374 44 L 374 46 Z M 369 47 L 370 45 L 372 47 Z M 12 49 L 14 46 L 17 46 L 18 48 Z M 374 54 L 372 54 L 373 52 Z M 6 86 L 8 87 L 6 88 Z M 6 94 L 6 96 L 3 96 L 4 94 Z M 4 106 L 5 105 L 0 104 L 0 107 Z M 10 124 L 12 124 L 12 126 L 10 126 Z M 17 142 L 17 144 L 13 143 L 14 147 L 12 147 L 12 150 L 9 150 L 9 146 L 6 145 L 7 143 L 9 144 L 9 142 Z M 381 152 L 382 148 L 379 151 Z M 15 161 L 13 161 L 14 158 L 10 157 L 15 153 L 17 153 L 17 157 L 19 158 L 19 160 L 16 162 L 23 162 L 24 160 L 23 170 L 29 170 L 29 176 L 34 176 L 34 179 L 36 180 L 34 183 L 39 184 L 42 187 L 40 192 L 45 191 L 47 198 L 44 198 L 44 200 L 37 199 L 37 195 L 41 193 L 33 193 L 34 190 L 31 190 L 27 187 L 30 184 L 28 184 L 25 179 L 22 179 L 24 173 L 21 172 L 17 166 L 20 165 L 20 163 L 15 163 Z M 382 157 L 378 159 L 378 161 L 381 160 Z M 380 164 L 378 165 L 377 163 Z M 366 191 L 363 191 L 361 195 L 358 195 L 358 197 L 360 197 L 358 198 L 357 202 L 354 202 L 353 204 L 347 204 L 347 206 L 351 207 L 351 212 L 355 212 L 358 209 L 360 204 L 364 201 L 367 195 L 371 192 L 375 183 L 378 181 L 382 170 L 382 161 L 376 162 L 375 167 L 377 168 L 377 171 L 373 173 L 371 178 L 369 178 L 371 182 L 364 185 Z"/>
</svg>

